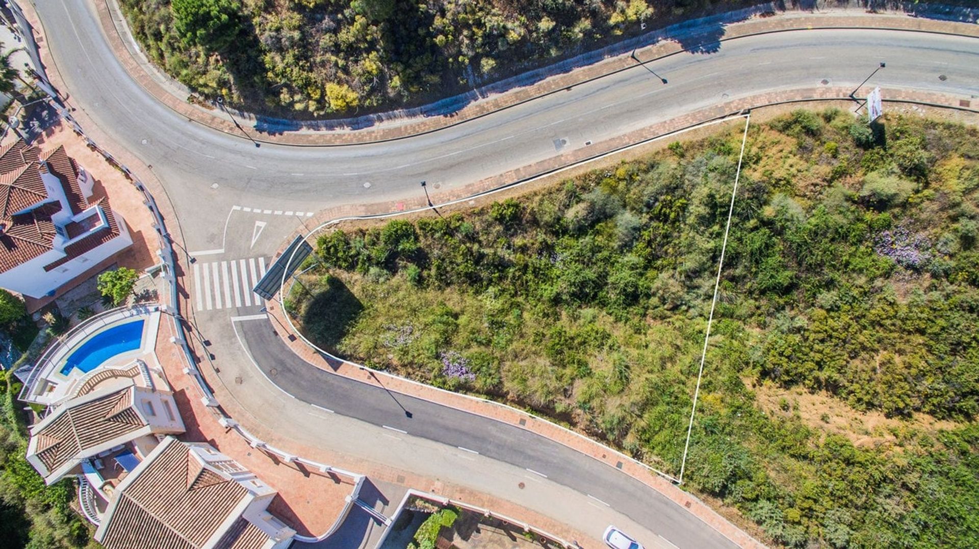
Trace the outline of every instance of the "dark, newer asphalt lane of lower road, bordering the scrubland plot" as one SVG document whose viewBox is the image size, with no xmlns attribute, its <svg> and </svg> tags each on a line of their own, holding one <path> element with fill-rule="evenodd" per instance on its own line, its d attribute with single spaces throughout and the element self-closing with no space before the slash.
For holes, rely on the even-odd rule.
<svg viewBox="0 0 979 549">
<path fill-rule="evenodd" d="M 304 402 L 532 469 L 608 503 L 678 547 L 736 547 L 656 490 L 557 442 L 516 426 L 313 368 L 275 335 L 268 322 L 242 322 L 239 329 L 242 343 L 265 375 Z"/>
</svg>

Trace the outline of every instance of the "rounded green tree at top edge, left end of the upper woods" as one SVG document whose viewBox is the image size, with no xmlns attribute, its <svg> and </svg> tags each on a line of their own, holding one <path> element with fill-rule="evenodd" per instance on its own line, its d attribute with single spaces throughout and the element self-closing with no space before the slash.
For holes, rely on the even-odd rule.
<svg viewBox="0 0 979 549">
<path fill-rule="evenodd" d="M 237 0 L 173 0 L 170 10 L 184 42 L 213 51 L 226 48 L 241 29 Z"/>
</svg>

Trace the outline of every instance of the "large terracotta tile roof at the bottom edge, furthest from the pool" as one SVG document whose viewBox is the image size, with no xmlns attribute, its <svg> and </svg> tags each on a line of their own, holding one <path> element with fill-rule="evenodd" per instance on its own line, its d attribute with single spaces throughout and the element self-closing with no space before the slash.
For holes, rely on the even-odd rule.
<svg viewBox="0 0 979 549">
<path fill-rule="evenodd" d="M 167 438 L 162 444 L 145 469 L 117 490 L 108 522 L 100 527 L 99 541 L 107 549 L 200 549 L 249 496 L 236 480 L 204 467 L 183 442 Z M 218 547 L 261 547 L 252 541 L 257 528 L 238 523 L 231 529 L 240 531 L 225 532 L 226 543 Z M 268 540 L 257 532 L 262 543 Z"/>
</svg>

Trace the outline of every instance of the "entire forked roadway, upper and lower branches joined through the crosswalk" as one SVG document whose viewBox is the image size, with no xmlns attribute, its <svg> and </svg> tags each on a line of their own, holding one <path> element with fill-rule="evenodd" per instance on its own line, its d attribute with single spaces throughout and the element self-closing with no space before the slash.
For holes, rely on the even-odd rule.
<svg viewBox="0 0 979 549">
<path fill-rule="evenodd" d="M 288 235 L 309 228 L 314 211 L 417 199 L 422 180 L 438 203 L 474 181 L 730 98 L 856 85 L 881 59 L 888 69 L 875 84 L 979 94 L 979 40 L 894 30 L 807 30 L 745 37 L 711 55 L 654 62 L 649 69 L 669 76 L 667 85 L 637 67 L 392 143 L 256 148 L 182 118 L 145 93 L 119 65 L 84 0 L 44 2 L 36 9 L 51 36 L 48 47 L 70 106 L 163 181 L 195 259 L 183 264 L 187 303 L 210 341 L 215 381 L 252 421 L 274 430 L 276 422 L 295 419 L 300 410 L 305 416 L 315 410 L 315 420 L 305 418 L 305 433 L 295 434 L 303 443 L 468 484 L 595 536 L 601 524 L 618 521 L 642 532 L 640 538 L 645 534 L 648 546 L 656 546 L 654 539 L 690 547 L 730 541 L 640 482 L 566 446 L 311 367 L 274 334 L 276 326 L 256 316 L 260 305 L 249 285 Z M 367 443 L 379 437 L 388 442 Z M 494 481 L 510 477 L 539 484 L 539 493 Z M 563 503 L 554 504 L 555 497 Z"/>
</svg>

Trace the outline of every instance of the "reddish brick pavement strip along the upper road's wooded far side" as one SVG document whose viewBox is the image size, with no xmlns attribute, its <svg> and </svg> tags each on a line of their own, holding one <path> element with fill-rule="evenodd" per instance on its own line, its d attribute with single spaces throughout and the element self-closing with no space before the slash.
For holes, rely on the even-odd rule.
<svg viewBox="0 0 979 549">
<path fill-rule="evenodd" d="M 143 67 L 143 64 L 134 59 L 129 50 L 123 43 L 123 38 L 117 23 L 113 20 L 109 9 L 110 0 L 100 0 L 96 2 L 96 9 L 99 14 L 99 21 L 102 24 L 110 45 L 116 52 L 117 59 L 130 74 L 130 76 L 140 83 L 151 95 L 156 97 L 165 106 L 175 113 L 181 114 L 188 119 L 208 125 L 213 129 L 240 135 L 235 125 L 225 118 L 215 116 L 207 111 L 195 107 L 187 102 L 187 99 L 180 99 L 174 96 L 169 90 L 157 82 Z M 784 32 L 791 30 L 825 29 L 825 28 L 875 28 L 890 30 L 911 30 L 918 32 L 935 32 L 943 34 L 956 34 L 961 36 L 979 37 L 979 25 L 970 23 L 953 23 L 936 20 L 928 20 L 900 15 L 868 14 L 858 10 L 839 10 L 832 12 L 836 15 L 811 14 L 798 15 L 798 12 L 783 12 L 781 15 L 772 17 L 753 17 L 744 22 L 731 23 L 724 26 L 721 41 L 739 37 L 765 34 L 770 32 Z M 710 41 L 718 41 L 710 38 Z M 684 51 L 676 41 L 661 40 L 655 44 L 641 47 L 633 53 L 637 59 L 644 62 L 652 61 L 676 55 Z M 328 131 L 291 131 L 281 134 L 260 134 L 257 141 L 267 143 L 277 143 L 282 145 L 296 146 L 328 146 L 328 145 L 350 145 L 359 143 L 371 143 L 379 141 L 390 141 L 402 139 L 413 135 L 419 135 L 453 126 L 464 121 L 472 120 L 487 114 L 508 109 L 528 101 L 533 101 L 545 95 L 557 91 L 568 89 L 584 82 L 601 78 L 622 70 L 635 67 L 635 61 L 630 55 L 619 55 L 606 58 L 594 65 L 581 69 L 547 77 L 535 84 L 518 87 L 509 91 L 495 94 L 489 99 L 477 101 L 469 104 L 460 111 L 447 116 L 428 116 L 418 117 L 410 122 L 388 128 L 373 128 L 361 130 L 328 130 Z M 849 91 L 849 90 L 848 90 Z"/>
</svg>

